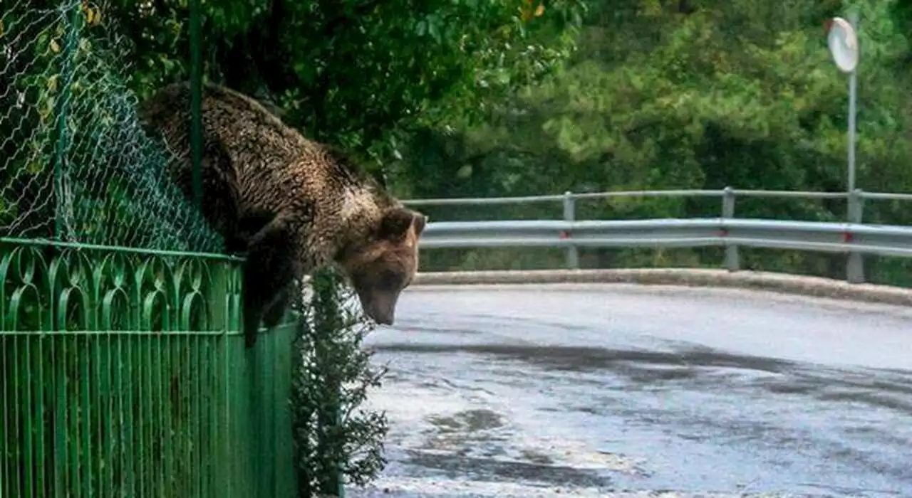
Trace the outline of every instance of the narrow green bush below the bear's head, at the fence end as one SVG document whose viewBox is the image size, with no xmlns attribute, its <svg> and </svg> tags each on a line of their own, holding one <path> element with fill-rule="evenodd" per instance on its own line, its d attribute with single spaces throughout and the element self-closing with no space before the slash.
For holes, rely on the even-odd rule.
<svg viewBox="0 0 912 498">
<path fill-rule="evenodd" d="M 310 299 L 302 293 L 295 306 L 301 320 L 291 397 L 302 498 L 337 495 L 342 483 L 359 486 L 378 477 L 388 429 L 384 413 L 360 406 L 386 373 L 361 348 L 373 322 L 335 269 L 316 272 L 310 287 Z"/>
</svg>

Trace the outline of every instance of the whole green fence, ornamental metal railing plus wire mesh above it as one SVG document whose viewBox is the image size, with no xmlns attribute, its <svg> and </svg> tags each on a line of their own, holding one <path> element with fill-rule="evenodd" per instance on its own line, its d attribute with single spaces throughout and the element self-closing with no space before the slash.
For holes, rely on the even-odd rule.
<svg viewBox="0 0 912 498">
<path fill-rule="evenodd" d="M 294 496 L 298 325 L 244 349 L 91 8 L 0 12 L 0 498 Z"/>
</svg>

